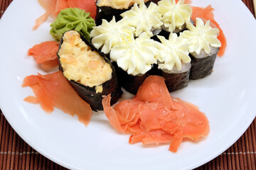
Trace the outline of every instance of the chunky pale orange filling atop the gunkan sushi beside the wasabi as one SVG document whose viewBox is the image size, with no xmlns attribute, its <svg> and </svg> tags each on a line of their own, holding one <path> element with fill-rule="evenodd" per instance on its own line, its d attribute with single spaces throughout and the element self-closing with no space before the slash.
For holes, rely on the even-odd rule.
<svg viewBox="0 0 256 170">
<path fill-rule="evenodd" d="M 110 64 L 98 52 L 92 51 L 75 30 L 63 35 L 58 55 L 64 76 L 85 86 L 95 86 L 96 93 L 101 93 L 102 84 L 112 78 Z"/>
</svg>

